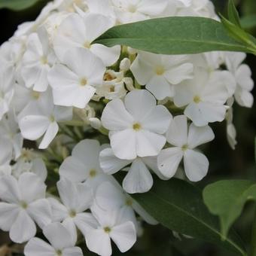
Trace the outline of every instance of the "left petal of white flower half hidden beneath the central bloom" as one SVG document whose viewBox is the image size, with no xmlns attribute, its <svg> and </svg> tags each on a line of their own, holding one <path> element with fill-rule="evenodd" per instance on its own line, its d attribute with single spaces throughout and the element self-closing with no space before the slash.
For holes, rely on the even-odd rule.
<svg viewBox="0 0 256 256">
<path fill-rule="evenodd" d="M 111 148 L 105 148 L 99 153 L 100 167 L 103 172 L 107 174 L 114 174 L 130 163 L 130 160 L 121 160 L 117 158 Z"/>
</svg>

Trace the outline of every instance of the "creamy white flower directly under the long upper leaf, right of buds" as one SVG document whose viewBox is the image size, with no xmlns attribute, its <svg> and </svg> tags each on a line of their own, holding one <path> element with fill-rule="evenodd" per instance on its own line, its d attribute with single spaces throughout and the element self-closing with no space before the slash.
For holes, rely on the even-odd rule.
<svg viewBox="0 0 256 256">
<path fill-rule="evenodd" d="M 193 78 L 193 64 L 187 56 L 168 56 L 140 52 L 131 66 L 139 84 L 154 94 L 157 99 L 174 96 L 172 85 Z"/>
</svg>

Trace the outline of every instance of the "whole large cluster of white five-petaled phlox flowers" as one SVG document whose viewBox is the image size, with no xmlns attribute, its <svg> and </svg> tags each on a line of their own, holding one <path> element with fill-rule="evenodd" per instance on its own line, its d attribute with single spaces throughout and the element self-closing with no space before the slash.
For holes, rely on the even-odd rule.
<svg viewBox="0 0 256 256">
<path fill-rule="evenodd" d="M 129 194 L 179 166 L 205 177 L 198 147 L 215 138 L 211 123 L 226 120 L 235 147 L 233 104 L 253 104 L 244 53 L 93 43 L 112 26 L 169 16 L 218 20 L 209 0 L 55 0 L 2 44 L 0 229 L 27 242 L 26 256 L 82 255 L 84 241 L 102 256 L 111 240 L 129 250 L 142 220 L 157 224 Z"/>
</svg>

